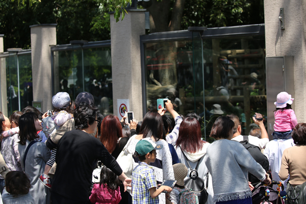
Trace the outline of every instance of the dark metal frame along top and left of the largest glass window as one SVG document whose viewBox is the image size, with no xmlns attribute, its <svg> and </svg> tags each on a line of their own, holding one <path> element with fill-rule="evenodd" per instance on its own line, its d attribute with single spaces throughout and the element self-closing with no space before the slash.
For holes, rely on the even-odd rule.
<svg viewBox="0 0 306 204">
<path fill-rule="evenodd" d="M 217 27 L 208 28 L 203 31 L 201 37 L 205 39 L 219 39 L 219 38 L 239 38 L 248 36 L 265 36 L 265 24 L 252 24 L 252 25 L 239 25 L 233 27 Z M 145 65 L 144 65 L 144 44 L 156 42 L 169 42 L 169 41 L 184 41 L 192 40 L 192 32 L 174 31 L 153 33 L 149 35 L 140 36 L 140 52 L 141 52 L 141 83 L 142 83 L 142 113 L 143 117 L 146 114 L 146 82 L 145 82 Z"/>
</svg>

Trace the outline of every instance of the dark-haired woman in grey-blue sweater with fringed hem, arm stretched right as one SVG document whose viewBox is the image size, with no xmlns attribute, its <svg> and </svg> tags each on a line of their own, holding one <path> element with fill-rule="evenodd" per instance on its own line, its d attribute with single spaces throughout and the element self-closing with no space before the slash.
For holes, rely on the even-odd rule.
<svg viewBox="0 0 306 204">
<path fill-rule="evenodd" d="M 207 148 L 205 164 L 212 174 L 216 204 L 252 203 L 252 193 L 247 180 L 248 171 L 259 180 L 270 184 L 269 175 L 244 146 L 231 141 L 234 122 L 220 116 L 213 124 L 210 137 L 216 139 Z"/>
</svg>

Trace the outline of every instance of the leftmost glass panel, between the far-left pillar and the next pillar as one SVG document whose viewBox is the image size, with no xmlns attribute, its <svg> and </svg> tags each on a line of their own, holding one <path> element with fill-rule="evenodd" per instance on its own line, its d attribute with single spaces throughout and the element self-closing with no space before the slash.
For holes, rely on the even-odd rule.
<svg viewBox="0 0 306 204">
<path fill-rule="evenodd" d="M 32 106 L 33 81 L 31 54 L 16 55 L 16 53 L 10 53 L 9 57 L 6 58 L 6 78 L 8 116 L 10 116 L 14 111 L 21 111 L 27 106 Z"/>
</svg>

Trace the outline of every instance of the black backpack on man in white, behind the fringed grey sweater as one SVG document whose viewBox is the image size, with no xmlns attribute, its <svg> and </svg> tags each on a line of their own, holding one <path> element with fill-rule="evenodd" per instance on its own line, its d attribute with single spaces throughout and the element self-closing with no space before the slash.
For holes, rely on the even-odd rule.
<svg viewBox="0 0 306 204">
<path fill-rule="evenodd" d="M 269 160 L 264 154 L 262 154 L 260 148 L 256 145 L 250 144 L 248 142 L 248 136 L 243 136 L 243 141 L 240 143 L 250 152 L 252 158 L 257 163 L 259 163 L 267 172 L 269 170 Z M 248 179 L 253 186 L 256 186 L 258 183 L 260 183 L 260 180 L 250 172 L 248 173 Z"/>
</svg>

